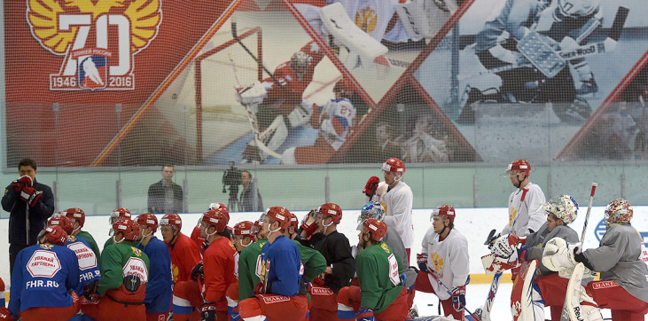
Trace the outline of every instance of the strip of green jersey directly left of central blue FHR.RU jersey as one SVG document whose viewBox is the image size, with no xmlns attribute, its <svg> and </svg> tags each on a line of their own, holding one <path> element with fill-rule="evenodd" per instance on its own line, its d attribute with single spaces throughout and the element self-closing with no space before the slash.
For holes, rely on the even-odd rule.
<svg viewBox="0 0 648 321">
<path fill-rule="evenodd" d="M 238 254 L 238 301 L 254 296 L 254 286 L 261 282 L 261 270 L 257 262 L 261 260 L 261 248 L 268 239 L 259 239 Z"/>
</svg>

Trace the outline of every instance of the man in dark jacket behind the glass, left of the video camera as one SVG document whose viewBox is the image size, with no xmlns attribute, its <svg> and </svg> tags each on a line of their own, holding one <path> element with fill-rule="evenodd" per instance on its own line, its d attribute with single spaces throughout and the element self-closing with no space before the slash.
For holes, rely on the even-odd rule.
<svg viewBox="0 0 648 321">
<path fill-rule="evenodd" d="M 149 212 L 183 213 L 183 188 L 171 181 L 173 172 L 173 165 L 162 165 L 162 179 L 149 186 Z"/>
</svg>

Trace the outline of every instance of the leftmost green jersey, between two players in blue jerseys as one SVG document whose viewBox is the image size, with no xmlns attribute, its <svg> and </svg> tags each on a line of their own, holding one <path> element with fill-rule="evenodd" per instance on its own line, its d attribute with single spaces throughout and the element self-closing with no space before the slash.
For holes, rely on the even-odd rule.
<svg viewBox="0 0 648 321">
<path fill-rule="evenodd" d="M 124 282 L 124 275 L 135 275 L 142 284 L 148 281 L 149 258 L 142 250 L 124 241 L 105 247 L 101 253 L 101 280 L 97 292 L 104 295 L 106 291 L 119 288 Z"/>
</svg>

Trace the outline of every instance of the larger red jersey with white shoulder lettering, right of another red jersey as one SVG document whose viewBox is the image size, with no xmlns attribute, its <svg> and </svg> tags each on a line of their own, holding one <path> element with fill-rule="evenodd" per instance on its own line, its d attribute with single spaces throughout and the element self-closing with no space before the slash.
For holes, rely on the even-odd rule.
<svg viewBox="0 0 648 321">
<path fill-rule="evenodd" d="M 230 239 L 215 239 L 205 250 L 205 301 L 216 302 L 217 310 L 227 309 L 225 291 L 237 281 L 237 262 L 238 252 Z"/>
</svg>

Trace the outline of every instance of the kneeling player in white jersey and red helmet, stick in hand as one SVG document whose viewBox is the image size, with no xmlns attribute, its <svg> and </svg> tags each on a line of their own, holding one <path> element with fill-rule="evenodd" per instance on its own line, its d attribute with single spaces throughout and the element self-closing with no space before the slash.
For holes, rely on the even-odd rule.
<svg viewBox="0 0 648 321">
<path fill-rule="evenodd" d="M 465 285 L 470 266 L 468 241 L 455 229 L 455 208 L 436 207 L 430 220 L 432 227 L 425 232 L 421 253 L 417 255 L 417 291 L 436 294 L 445 316 L 464 319 Z M 429 274 L 433 274 L 429 275 Z M 441 280 L 442 285 L 437 281 Z M 452 295 L 446 292 L 451 289 Z"/>
</svg>

